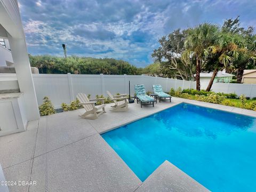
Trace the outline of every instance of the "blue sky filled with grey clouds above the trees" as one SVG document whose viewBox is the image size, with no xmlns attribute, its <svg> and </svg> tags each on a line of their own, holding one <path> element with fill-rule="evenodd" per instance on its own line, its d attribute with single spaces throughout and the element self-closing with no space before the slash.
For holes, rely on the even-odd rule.
<svg viewBox="0 0 256 192">
<path fill-rule="evenodd" d="M 199 22 L 241 15 L 256 27 L 256 0 L 18 0 L 28 52 L 115 58 L 144 67 L 158 38 Z"/>
</svg>

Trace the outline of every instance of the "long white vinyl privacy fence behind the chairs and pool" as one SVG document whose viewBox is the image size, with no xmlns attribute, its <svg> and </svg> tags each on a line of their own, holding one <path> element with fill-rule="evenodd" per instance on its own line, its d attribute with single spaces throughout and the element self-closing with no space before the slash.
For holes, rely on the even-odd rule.
<svg viewBox="0 0 256 192">
<path fill-rule="evenodd" d="M 15 74 L 0 74 L 0 81 L 13 80 Z M 131 83 L 131 95 L 134 94 L 135 84 L 144 84 L 147 91 L 152 91 L 152 85 L 160 84 L 163 90 L 168 92 L 171 88 L 195 89 L 193 81 L 182 81 L 162 77 L 150 77 L 145 75 L 73 75 L 73 74 L 33 74 L 37 101 L 41 105 L 45 96 L 49 97 L 55 108 L 60 108 L 62 102 L 70 103 L 76 98 L 77 93 L 95 95 L 106 91 L 111 93 L 129 94 L 129 81 Z M 201 89 L 206 89 L 207 83 L 201 83 Z M 256 97 L 256 84 L 213 83 L 212 90 L 223 93 L 244 94 L 246 97 Z"/>
</svg>

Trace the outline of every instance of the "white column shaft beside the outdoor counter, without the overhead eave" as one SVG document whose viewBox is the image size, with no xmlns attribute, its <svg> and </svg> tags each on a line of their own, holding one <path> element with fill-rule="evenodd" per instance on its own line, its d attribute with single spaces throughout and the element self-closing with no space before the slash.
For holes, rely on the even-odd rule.
<svg viewBox="0 0 256 192">
<path fill-rule="evenodd" d="M 36 92 L 25 39 L 13 38 L 10 35 L 8 35 L 8 38 L 20 91 L 24 93 L 24 107 L 27 119 L 28 121 L 39 119 Z"/>
</svg>

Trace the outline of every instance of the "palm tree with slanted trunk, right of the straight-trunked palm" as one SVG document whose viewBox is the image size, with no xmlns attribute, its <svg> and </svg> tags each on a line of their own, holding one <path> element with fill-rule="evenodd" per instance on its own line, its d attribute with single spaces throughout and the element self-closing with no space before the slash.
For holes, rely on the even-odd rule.
<svg viewBox="0 0 256 192">
<path fill-rule="evenodd" d="M 210 91 L 214 78 L 222 68 L 228 68 L 234 61 L 244 62 L 247 55 L 247 43 L 242 35 L 220 32 L 214 45 L 205 50 L 205 56 L 208 59 L 207 65 L 214 68 L 206 91 Z"/>
</svg>

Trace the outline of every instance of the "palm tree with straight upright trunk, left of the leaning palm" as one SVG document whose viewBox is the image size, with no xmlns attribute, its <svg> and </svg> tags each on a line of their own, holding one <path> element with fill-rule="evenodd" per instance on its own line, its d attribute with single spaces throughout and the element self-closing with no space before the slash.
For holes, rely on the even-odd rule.
<svg viewBox="0 0 256 192">
<path fill-rule="evenodd" d="M 185 47 L 196 58 L 196 90 L 198 91 L 200 91 L 200 73 L 204 52 L 214 43 L 217 31 L 218 26 L 210 23 L 203 23 L 188 29 Z"/>
</svg>

